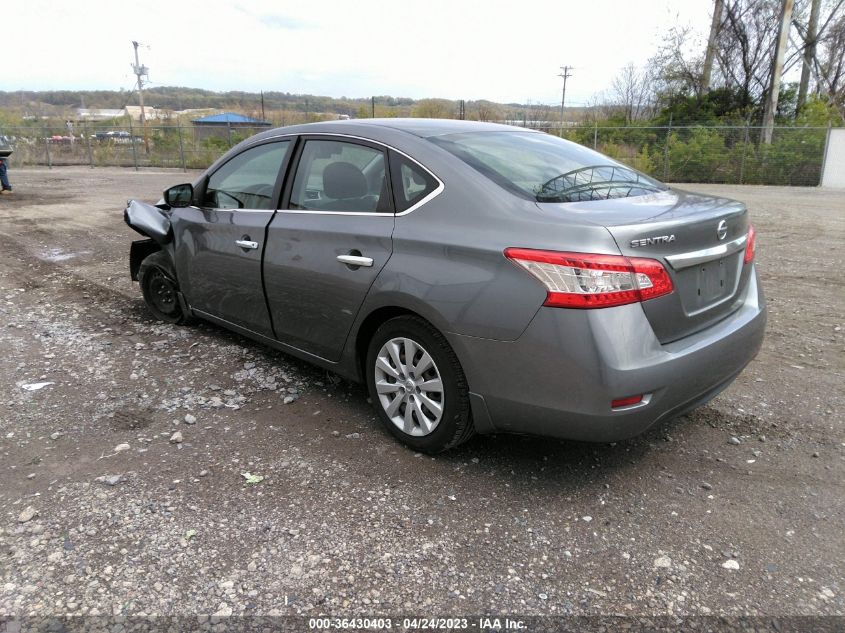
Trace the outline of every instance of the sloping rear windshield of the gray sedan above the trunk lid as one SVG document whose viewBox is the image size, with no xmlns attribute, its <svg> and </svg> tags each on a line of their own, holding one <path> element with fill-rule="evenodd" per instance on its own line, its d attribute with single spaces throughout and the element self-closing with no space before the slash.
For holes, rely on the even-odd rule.
<svg viewBox="0 0 845 633">
<path fill-rule="evenodd" d="M 628 198 L 666 189 L 604 154 L 549 134 L 469 132 L 428 140 L 505 189 L 537 202 Z"/>
</svg>

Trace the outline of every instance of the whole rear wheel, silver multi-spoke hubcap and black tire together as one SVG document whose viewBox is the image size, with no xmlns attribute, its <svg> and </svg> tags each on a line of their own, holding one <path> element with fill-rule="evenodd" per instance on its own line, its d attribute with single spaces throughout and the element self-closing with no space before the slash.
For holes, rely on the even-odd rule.
<svg viewBox="0 0 845 633">
<path fill-rule="evenodd" d="M 385 322 L 370 341 L 366 363 L 376 414 L 406 446 L 440 453 L 475 433 L 461 365 L 428 322 L 415 316 Z"/>
</svg>

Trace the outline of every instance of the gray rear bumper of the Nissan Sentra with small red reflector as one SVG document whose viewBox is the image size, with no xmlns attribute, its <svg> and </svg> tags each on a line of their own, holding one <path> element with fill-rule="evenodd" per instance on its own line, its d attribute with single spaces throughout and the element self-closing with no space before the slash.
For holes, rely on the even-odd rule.
<svg viewBox="0 0 845 633">
<path fill-rule="evenodd" d="M 541 308 L 512 342 L 461 335 L 480 432 L 608 442 L 642 433 L 713 398 L 754 358 L 766 309 L 756 271 L 741 307 L 715 325 L 661 345 L 639 304 Z M 644 395 L 640 404 L 611 402 Z"/>
</svg>

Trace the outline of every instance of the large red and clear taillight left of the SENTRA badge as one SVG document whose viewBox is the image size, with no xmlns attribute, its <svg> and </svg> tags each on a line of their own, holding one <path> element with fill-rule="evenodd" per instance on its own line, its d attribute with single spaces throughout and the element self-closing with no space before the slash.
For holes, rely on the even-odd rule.
<svg viewBox="0 0 845 633">
<path fill-rule="evenodd" d="M 543 305 L 607 308 L 672 292 L 672 279 L 655 259 L 508 248 L 505 256 L 547 290 Z"/>
</svg>

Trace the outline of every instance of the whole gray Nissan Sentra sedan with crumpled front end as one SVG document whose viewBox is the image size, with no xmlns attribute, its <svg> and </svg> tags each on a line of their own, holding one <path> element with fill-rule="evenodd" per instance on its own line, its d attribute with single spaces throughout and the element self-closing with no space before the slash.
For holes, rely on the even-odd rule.
<svg viewBox="0 0 845 633">
<path fill-rule="evenodd" d="M 125 219 L 156 317 L 363 381 L 427 452 L 631 437 L 728 386 L 766 322 L 742 203 L 502 125 L 271 130 Z"/>
</svg>

